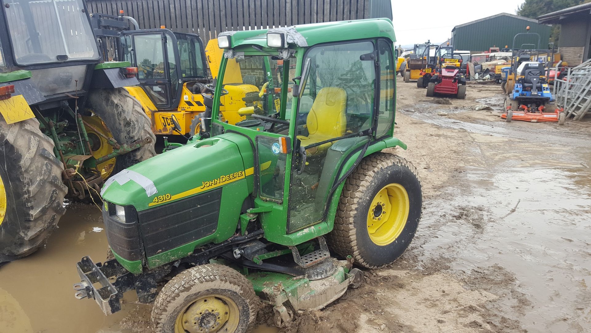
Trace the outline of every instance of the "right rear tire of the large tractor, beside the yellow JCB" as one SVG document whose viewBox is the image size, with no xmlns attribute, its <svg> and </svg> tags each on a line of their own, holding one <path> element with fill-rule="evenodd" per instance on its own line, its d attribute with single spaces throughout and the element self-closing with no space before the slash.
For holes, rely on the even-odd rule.
<svg viewBox="0 0 591 333">
<path fill-rule="evenodd" d="M 150 142 L 131 152 L 115 157 L 112 167 L 103 169 L 103 179 L 138 162 L 156 156 L 156 136 L 151 129 L 150 118 L 142 105 L 124 88 L 95 89 L 88 96 L 87 109 L 98 115 L 106 125 L 106 131 L 119 144 L 129 144 L 144 138 Z"/>
</svg>

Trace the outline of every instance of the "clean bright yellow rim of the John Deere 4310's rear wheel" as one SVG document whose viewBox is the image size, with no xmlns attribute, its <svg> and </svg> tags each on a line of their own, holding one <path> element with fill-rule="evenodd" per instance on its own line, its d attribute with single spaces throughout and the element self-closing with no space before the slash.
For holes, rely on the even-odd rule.
<svg viewBox="0 0 591 333">
<path fill-rule="evenodd" d="M 400 236 L 408 219 L 410 201 L 404 186 L 391 183 L 378 191 L 369 206 L 368 233 L 376 245 L 388 245 Z"/>
</svg>

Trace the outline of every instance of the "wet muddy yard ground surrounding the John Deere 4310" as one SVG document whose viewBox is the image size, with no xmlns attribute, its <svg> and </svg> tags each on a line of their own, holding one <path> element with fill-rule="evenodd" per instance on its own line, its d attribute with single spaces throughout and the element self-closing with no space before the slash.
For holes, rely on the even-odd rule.
<svg viewBox="0 0 591 333">
<path fill-rule="evenodd" d="M 501 121 L 497 85 L 470 85 L 465 101 L 425 93 L 398 81 L 395 134 L 409 148 L 393 152 L 424 185 L 413 244 L 282 331 L 591 332 L 591 122 Z M 150 332 L 134 299 L 108 317 L 74 299 L 74 263 L 105 248 L 99 209 L 70 205 L 46 248 L 0 269 L 0 333 Z"/>
</svg>

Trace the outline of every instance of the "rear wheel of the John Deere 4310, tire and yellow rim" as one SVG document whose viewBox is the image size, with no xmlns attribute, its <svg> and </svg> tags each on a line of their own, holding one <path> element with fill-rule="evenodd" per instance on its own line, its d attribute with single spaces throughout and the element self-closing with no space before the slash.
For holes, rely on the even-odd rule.
<svg viewBox="0 0 591 333">
<path fill-rule="evenodd" d="M 394 154 L 371 154 L 346 180 L 330 248 L 366 268 L 392 263 L 413 240 L 422 205 L 417 168 Z"/>
</svg>

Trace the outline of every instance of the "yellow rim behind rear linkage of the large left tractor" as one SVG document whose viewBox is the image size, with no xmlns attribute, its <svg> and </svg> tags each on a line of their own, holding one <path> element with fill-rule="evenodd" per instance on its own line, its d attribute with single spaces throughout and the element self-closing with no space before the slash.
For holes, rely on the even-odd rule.
<svg viewBox="0 0 591 333">
<path fill-rule="evenodd" d="M 90 148 L 92 148 L 92 156 L 95 157 L 95 159 L 98 159 L 99 157 L 111 154 L 114 150 L 113 146 L 109 144 L 108 140 L 99 135 L 100 133 L 108 138 L 113 137 L 113 135 L 108 130 L 102 119 L 100 119 L 98 115 L 82 117 L 82 119 L 84 119 L 84 121 L 92 125 L 92 127 L 96 128 L 97 130 L 95 131 L 90 129 L 89 127 L 86 127 L 86 132 L 88 134 L 88 138 L 90 139 Z M 117 158 L 113 157 L 111 160 L 105 161 L 96 166 L 96 169 L 99 170 L 100 177 L 102 177 L 103 180 L 109 178 L 109 176 L 111 176 L 111 173 L 113 173 L 113 169 L 115 169 L 116 160 Z"/>
</svg>

